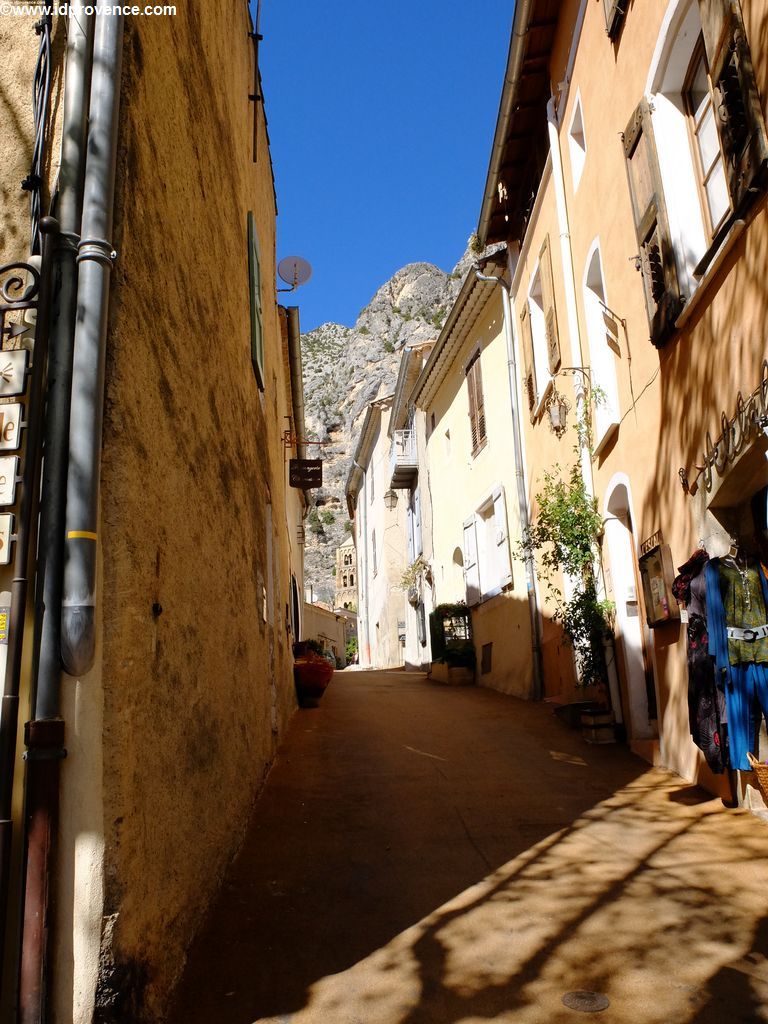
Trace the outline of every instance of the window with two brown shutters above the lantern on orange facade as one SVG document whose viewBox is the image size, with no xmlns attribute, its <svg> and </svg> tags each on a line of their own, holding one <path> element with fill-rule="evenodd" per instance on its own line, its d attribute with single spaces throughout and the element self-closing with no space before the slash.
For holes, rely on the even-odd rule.
<svg viewBox="0 0 768 1024">
<path fill-rule="evenodd" d="M 527 302 L 520 313 L 520 328 L 524 390 L 532 422 L 549 393 L 552 377 L 560 368 L 560 335 L 549 236 L 539 253 L 539 265 L 530 282 Z"/>
</svg>

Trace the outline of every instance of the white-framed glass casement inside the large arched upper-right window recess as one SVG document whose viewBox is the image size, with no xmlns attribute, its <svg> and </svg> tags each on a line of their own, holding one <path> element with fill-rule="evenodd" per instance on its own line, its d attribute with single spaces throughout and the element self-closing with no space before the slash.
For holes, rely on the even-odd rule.
<svg viewBox="0 0 768 1024">
<path fill-rule="evenodd" d="M 703 37 L 699 38 L 683 87 L 683 101 L 688 115 L 688 130 L 693 143 L 696 179 L 707 233 L 712 241 L 730 212 L 725 164 L 720 148 L 715 103 L 710 83 Z"/>
</svg>

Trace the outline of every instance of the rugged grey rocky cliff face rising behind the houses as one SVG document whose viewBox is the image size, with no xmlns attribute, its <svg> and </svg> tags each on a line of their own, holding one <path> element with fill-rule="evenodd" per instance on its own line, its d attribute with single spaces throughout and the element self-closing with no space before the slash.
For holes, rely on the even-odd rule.
<svg viewBox="0 0 768 1024">
<path fill-rule="evenodd" d="M 323 487 L 306 523 L 304 580 L 315 600 L 333 601 L 334 553 L 351 531 L 344 485 L 366 407 L 394 390 L 400 351 L 436 339 L 469 268 L 468 253 L 452 273 L 410 263 L 377 291 L 354 327 L 324 324 L 302 336 L 308 457 L 322 458 Z"/>
</svg>

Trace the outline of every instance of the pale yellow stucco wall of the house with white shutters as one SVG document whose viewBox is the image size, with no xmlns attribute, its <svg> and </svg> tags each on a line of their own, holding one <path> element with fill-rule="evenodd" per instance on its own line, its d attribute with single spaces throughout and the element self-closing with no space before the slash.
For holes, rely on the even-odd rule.
<svg viewBox="0 0 768 1024">
<path fill-rule="evenodd" d="M 531 648 L 528 602 L 522 562 L 515 557 L 520 538 L 515 465 L 510 428 L 509 375 L 501 293 L 485 286 L 487 295 L 468 327 L 447 374 L 433 397 L 425 402 L 427 422 L 435 425 L 427 438 L 431 504 L 434 603 L 466 599 L 463 556 L 464 521 L 481 506 L 495 487 L 505 493 L 512 554 L 513 586 L 483 600 L 472 614 L 477 653 L 476 678 L 482 685 L 517 696 L 529 696 Z M 487 442 L 472 456 L 469 398 L 465 366 L 480 345 L 482 389 Z M 480 673 L 484 644 L 493 644 L 493 668 Z"/>
</svg>

